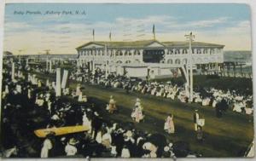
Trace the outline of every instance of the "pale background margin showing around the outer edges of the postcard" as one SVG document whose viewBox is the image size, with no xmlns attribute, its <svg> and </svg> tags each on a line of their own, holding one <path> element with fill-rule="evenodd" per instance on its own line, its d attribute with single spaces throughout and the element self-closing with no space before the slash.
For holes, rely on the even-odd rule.
<svg viewBox="0 0 256 161">
<path fill-rule="evenodd" d="M 2 73 L 2 58 L 3 58 L 3 15 L 4 15 L 4 3 L 246 3 L 251 7 L 251 22 L 252 22 L 252 51 L 253 51 L 253 106 L 254 109 L 256 107 L 256 85 L 255 85 L 255 77 L 256 77 L 256 63 L 254 62 L 256 59 L 256 0 L 0 0 L 0 72 Z M 0 74 L 0 84 L 2 84 L 2 74 Z M 0 85 L 0 91 L 2 89 L 2 85 Z M 1 111 L 0 111 L 1 114 Z M 255 120 L 256 112 L 254 112 L 254 120 Z M 1 115 L 0 115 L 1 116 Z M 255 121 L 254 121 L 254 138 L 255 138 Z M 232 148 L 232 147 L 230 147 Z M 255 157 L 254 157 L 255 158 Z M 178 160 L 254 160 L 254 158 L 177 158 Z M 0 158 L 2 160 L 2 158 Z M 8 159 L 8 160 L 41 160 L 40 158 L 31 158 L 31 159 Z M 86 160 L 85 158 L 51 158 L 47 160 L 65 160 L 65 161 L 73 161 L 73 160 Z M 91 160 L 140 160 L 138 158 L 92 158 Z M 150 160 L 172 160 L 168 159 L 150 159 Z"/>
</svg>

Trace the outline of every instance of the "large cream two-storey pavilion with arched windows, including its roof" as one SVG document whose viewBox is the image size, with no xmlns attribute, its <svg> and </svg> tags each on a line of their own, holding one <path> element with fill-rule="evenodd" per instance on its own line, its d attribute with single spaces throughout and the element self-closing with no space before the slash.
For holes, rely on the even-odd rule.
<svg viewBox="0 0 256 161">
<path fill-rule="evenodd" d="M 193 64 L 197 67 L 224 62 L 224 45 L 192 43 Z M 172 68 L 187 64 L 188 42 L 159 42 L 142 40 L 133 42 L 93 41 L 77 48 L 81 63 L 94 62 L 95 66 L 113 66 L 110 72 L 128 72 L 131 77 L 152 77 L 173 74 Z M 114 69 L 113 69 L 114 68 Z"/>
</svg>

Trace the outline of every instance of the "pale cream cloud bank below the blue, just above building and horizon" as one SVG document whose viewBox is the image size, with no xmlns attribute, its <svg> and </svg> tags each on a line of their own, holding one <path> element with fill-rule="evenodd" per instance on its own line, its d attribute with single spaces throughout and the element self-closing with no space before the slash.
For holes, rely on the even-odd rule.
<svg viewBox="0 0 256 161">
<path fill-rule="evenodd" d="M 113 22 L 65 20 L 63 17 L 55 21 L 44 17 L 39 23 L 39 18 L 36 19 L 37 23 L 8 21 L 4 26 L 4 49 L 13 52 L 25 49 L 30 54 L 51 49 L 56 54 L 74 54 L 77 46 L 91 41 L 92 29 L 98 41 L 108 41 L 109 32 L 113 41 L 152 39 L 153 24 L 160 41 L 184 41 L 184 34 L 195 31 L 196 41 L 222 43 L 225 49 L 251 49 L 250 21 L 228 17 L 185 23 L 169 15 L 148 15 L 139 19 L 118 17 Z"/>
</svg>

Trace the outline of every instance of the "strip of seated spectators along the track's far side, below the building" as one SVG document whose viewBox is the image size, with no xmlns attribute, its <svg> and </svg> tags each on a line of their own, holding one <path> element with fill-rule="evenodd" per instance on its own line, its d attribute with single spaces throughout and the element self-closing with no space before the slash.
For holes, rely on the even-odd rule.
<svg viewBox="0 0 256 161">
<path fill-rule="evenodd" d="M 185 90 L 185 83 L 177 85 L 172 82 L 152 82 L 139 78 L 128 78 L 114 73 L 108 74 L 96 70 L 95 74 L 90 73 L 86 67 L 79 69 L 70 76 L 70 79 L 87 83 L 97 83 L 106 88 L 125 89 L 127 93 L 134 91 L 143 95 L 155 95 L 157 97 L 189 102 L 189 93 Z M 195 88 L 193 101 L 201 106 L 212 106 L 216 109 L 217 116 L 224 110 L 219 106 L 228 106 L 233 112 L 253 114 L 253 95 L 241 94 L 236 90 L 223 90 L 216 88 Z M 220 104 L 218 106 L 218 104 Z"/>
</svg>

